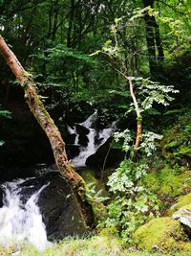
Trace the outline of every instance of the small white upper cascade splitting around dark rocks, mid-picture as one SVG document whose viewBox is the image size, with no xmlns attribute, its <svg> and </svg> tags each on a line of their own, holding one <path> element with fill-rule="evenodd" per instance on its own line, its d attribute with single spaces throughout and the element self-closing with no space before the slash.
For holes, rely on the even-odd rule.
<svg viewBox="0 0 191 256">
<path fill-rule="evenodd" d="M 91 116 L 89 116 L 86 121 L 78 124 L 84 128 L 88 128 L 89 133 L 87 134 L 88 145 L 86 147 L 80 147 L 80 153 L 72 159 L 72 162 L 75 168 L 84 167 L 86 159 L 90 155 L 94 154 L 97 151 L 97 149 L 101 145 L 103 145 L 107 141 L 107 139 L 111 137 L 113 133 L 116 122 L 112 124 L 111 128 L 103 128 L 97 131 L 96 128 L 94 128 L 96 117 L 97 117 L 97 110 Z M 78 144 L 79 135 L 76 132 L 76 128 L 68 127 L 68 130 L 71 134 L 76 135 L 74 140 L 74 145 L 79 146 Z M 98 143 L 96 143 L 96 141 Z"/>
</svg>

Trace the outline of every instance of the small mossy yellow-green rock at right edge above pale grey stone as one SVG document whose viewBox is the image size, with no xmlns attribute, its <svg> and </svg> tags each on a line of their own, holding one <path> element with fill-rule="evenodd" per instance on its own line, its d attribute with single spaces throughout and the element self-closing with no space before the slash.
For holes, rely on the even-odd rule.
<svg viewBox="0 0 191 256">
<path fill-rule="evenodd" d="M 174 214 L 180 209 L 191 209 L 191 193 L 180 197 L 177 203 L 171 207 L 170 213 Z"/>
</svg>

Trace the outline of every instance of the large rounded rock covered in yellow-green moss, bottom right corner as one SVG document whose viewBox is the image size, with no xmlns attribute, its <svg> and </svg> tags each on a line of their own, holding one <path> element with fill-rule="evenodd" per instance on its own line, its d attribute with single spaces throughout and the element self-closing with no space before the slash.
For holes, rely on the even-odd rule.
<svg viewBox="0 0 191 256">
<path fill-rule="evenodd" d="M 169 217 L 154 219 L 140 226 L 134 234 L 134 240 L 138 249 L 152 251 L 158 248 L 163 253 L 180 251 L 181 244 L 190 244 L 180 222 Z"/>
</svg>

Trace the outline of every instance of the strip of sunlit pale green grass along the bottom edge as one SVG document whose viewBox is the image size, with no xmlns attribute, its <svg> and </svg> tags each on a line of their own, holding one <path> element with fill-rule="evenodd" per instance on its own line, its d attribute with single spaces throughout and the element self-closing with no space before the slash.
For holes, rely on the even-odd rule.
<svg viewBox="0 0 191 256">
<path fill-rule="evenodd" d="M 134 250 L 134 251 L 133 251 Z M 32 245 L 12 245 L 0 247 L 0 255 L 18 256 L 161 256 L 160 253 L 137 251 L 125 248 L 115 237 L 95 236 L 86 239 L 66 238 L 59 244 L 52 244 L 44 251 L 36 250 Z M 168 254 L 168 256 L 187 256 L 186 254 Z"/>
</svg>

